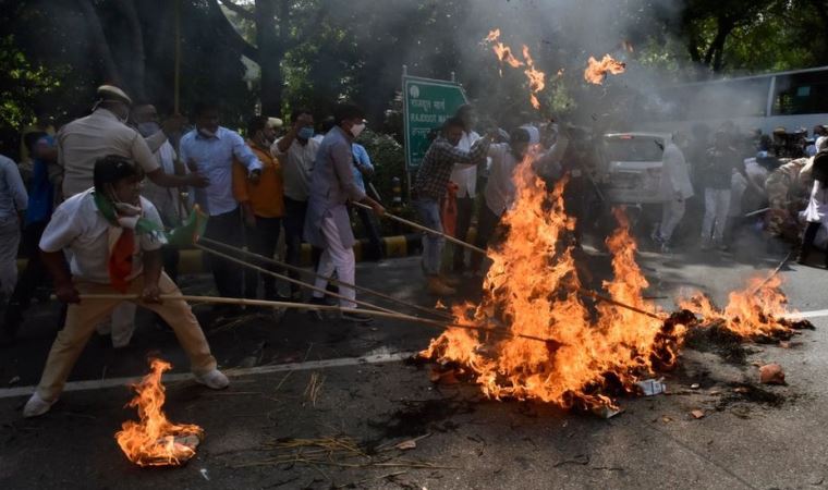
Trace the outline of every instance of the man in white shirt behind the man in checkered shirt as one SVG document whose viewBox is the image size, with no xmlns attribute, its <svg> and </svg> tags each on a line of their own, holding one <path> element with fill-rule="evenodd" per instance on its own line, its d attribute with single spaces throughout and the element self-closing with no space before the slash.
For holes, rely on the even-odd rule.
<svg viewBox="0 0 828 490">
<path fill-rule="evenodd" d="M 462 151 L 468 151 L 472 145 L 480 139 L 480 135 L 474 131 L 474 126 L 477 124 L 477 114 L 473 106 L 463 105 L 456 110 L 454 117 L 463 122 L 463 133 L 460 136 L 456 148 Z M 465 242 L 474 215 L 474 203 L 477 192 L 477 167 L 459 162 L 452 169 L 449 181 L 451 184 L 449 184 L 446 199 L 449 201 L 449 206 L 453 204 L 456 209 L 453 236 Z M 452 247 L 453 259 L 451 270 L 454 273 L 462 273 L 465 270 L 466 250 L 464 247 L 453 244 Z"/>
</svg>

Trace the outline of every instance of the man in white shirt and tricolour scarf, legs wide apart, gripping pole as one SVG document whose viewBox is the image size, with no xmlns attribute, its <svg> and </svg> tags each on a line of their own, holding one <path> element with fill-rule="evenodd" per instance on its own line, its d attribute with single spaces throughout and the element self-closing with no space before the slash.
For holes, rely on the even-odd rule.
<svg viewBox="0 0 828 490">
<path fill-rule="evenodd" d="M 195 380 L 215 390 L 229 384 L 216 369 L 216 358 L 187 303 L 160 301 L 161 294 L 181 292 L 161 270 L 161 219 L 153 204 L 141 197 L 143 179 L 141 169 L 130 160 L 101 158 L 95 163 L 95 187 L 61 204 L 44 231 L 42 259 L 54 280 L 58 299 L 68 303 L 69 308 L 37 391 L 23 408 L 24 417 L 49 412 L 95 326 L 121 303 L 82 302 L 81 294 L 139 295 L 133 299 L 135 303 L 157 313 L 172 327 L 190 357 Z"/>
</svg>

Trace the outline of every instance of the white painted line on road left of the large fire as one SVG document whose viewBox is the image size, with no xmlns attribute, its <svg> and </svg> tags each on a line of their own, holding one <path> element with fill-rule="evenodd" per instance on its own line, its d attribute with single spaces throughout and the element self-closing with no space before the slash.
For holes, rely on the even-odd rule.
<svg viewBox="0 0 828 490">
<path fill-rule="evenodd" d="M 340 357 L 336 359 L 308 360 L 305 363 L 275 364 L 270 366 L 257 366 L 252 368 L 233 368 L 227 369 L 223 372 L 230 378 L 241 378 L 244 376 L 268 375 L 271 372 L 308 371 L 312 369 L 330 369 L 337 367 L 358 366 L 361 364 L 395 363 L 412 357 L 415 354 L 416 352 L 398 352 L 394 354 L 382 353 L 363 357 Z M 106 390 L 109 388 L 126 387 L 129 384 L 138 382 L 141 378 L 142 376 L 136 376 L 133 378 L 72 381 L 66 383 L 63 391 Z M 163 376 L 165 383 L 187 381 L 192 379 L 193 375 L 190 372 L 176 372 L 173 375 Z M 0 390 L 0 399 L 12 399 L 15 396 L 31 395 L 35 391 L 35 388 L 37 387 L 16 387 L 2 389 Z"/>
</svg>

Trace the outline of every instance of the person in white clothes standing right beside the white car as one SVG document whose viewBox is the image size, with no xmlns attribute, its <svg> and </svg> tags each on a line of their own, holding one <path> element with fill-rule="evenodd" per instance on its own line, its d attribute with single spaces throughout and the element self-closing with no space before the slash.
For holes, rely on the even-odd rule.
<svg viewBox="0 0 828 490">
<path fill-rule="evenodd" d="M 690 168 L 679 144 L 684 143 L 680 134 L 665 146 L 661 157 L 661 222 L 653 234 L 653 240 L 660 245 L 661 252 L 670 250 L 672 235 L 686 211 L 686 201 L 693 197 L 693 184 L 690 182 Z"/>
</svg>

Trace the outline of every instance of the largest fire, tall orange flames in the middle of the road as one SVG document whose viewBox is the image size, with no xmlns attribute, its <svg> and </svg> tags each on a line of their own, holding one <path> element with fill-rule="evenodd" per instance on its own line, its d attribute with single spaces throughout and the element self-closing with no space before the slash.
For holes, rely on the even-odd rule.
<svg viewBox="0 0 828 490">
<path fill-rule="evenodd" d="M 549 339 L 541 343 L 511 336 L 490 339 L 449 329 L 424 356 L 467 370 L 490 397 L 540 400 L 563 407 L 613 407 L 612 397 L 635 391 L 656 368 L 674 365 L 683 324 L 582 302 L 572 255 L 574 220 L 563 208 L 560 182 L 551 195 L 535 175 L 533 158 L 515 169 L 514 207 L 503 221 L 504 243 L 494 260 L 479 305 L 455 306 L 461 324 L 503 323 L 513 334 Z M 642 298 L 647 286 L 634 260 L 629 223 L 618 211 L 619 230 L 608 240 L 616 279 L 605 283 L 613 299 L 655 310 Z"/>
</svg>

